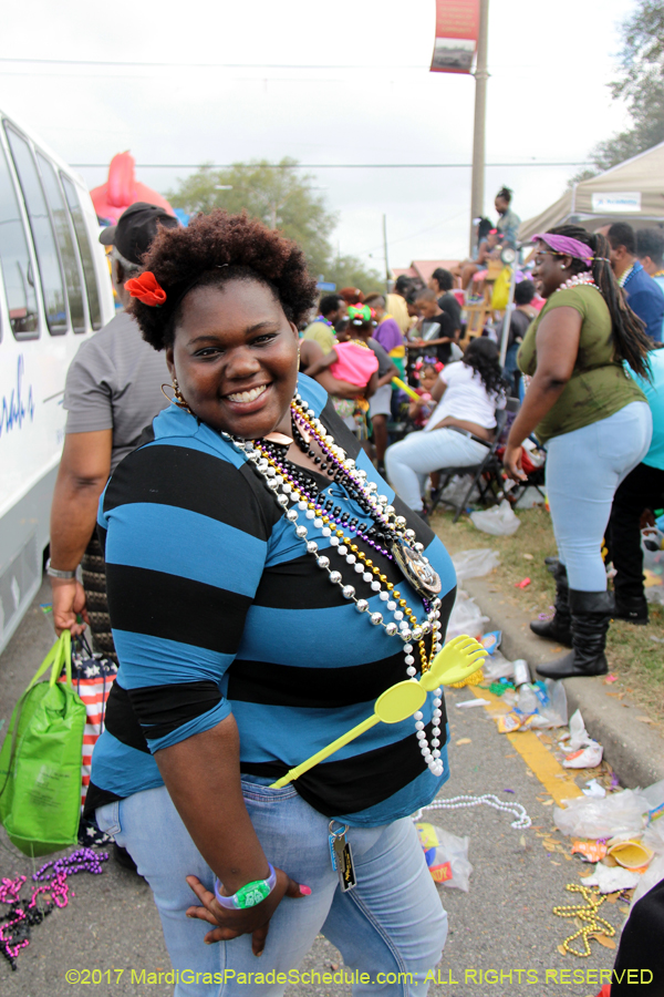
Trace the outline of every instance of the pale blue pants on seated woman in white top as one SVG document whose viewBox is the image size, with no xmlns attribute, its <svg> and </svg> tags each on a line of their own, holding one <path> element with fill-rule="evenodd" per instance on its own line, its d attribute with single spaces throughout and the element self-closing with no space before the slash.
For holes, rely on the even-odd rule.
<svg viewBox="0 0 664 997">
<path fill-rule="evenodd" d="M 390 484 L 409 508 L 422 508 L 422 495 L 432 471 L 481 464 L 489 448 L 450 429 L 411 433 L 387 448 L 385 467 Z"/>
</svg>

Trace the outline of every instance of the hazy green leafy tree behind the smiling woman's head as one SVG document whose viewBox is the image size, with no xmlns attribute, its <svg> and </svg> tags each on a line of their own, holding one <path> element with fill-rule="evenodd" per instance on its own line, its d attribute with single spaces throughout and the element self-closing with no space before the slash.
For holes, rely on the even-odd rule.
<svg viewBox="0 0 664 997">
<path fill-rule="evenodd" d="M 177 189 L 168 192 L 174 207 L 189 214 L 208 214 L 214 208 L 241 212 L 246 208 L 270 228 L 279 228 L 304 250 L 309 268 L 338 287 L 360 287 L 362 290 L 381 286 L 374 270 L 366 270 L 353 256 L 336 257 L 330 236 L 338 216 L 329 210 L 324 198 L 317 193 L 315 177 L 303 174 L 298 161 L 284 157 L 277 167 L 266 160 L 236 163 L 228 169 L 201 166 Z"/>
</svg>

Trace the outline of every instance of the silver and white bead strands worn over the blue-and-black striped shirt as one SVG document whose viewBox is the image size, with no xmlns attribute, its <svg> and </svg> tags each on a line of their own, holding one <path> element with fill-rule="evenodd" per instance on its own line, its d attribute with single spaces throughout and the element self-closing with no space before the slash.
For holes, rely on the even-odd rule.
<svg viewBox="0 0 664 997">
<path fill-rule="evenodd" d="M 352 460 L 352 458 L 347 458 L 345 451 L 334 442 L 333 436 L 326 432 L 321 420 L 315 415 L 315 411 L 308 405 L 299 394 L 295 394 L 293 404 L 301 414 L 303 413 L 307 417 L 312 435 L 315 436 L 319 444 L 330 451 L 336 458 L 339 463 L 343 465 L 344 473 L 352 480 L 355 489 L 362 492 L 362 496 L 371 507 L 374 518 L 392 533 L 403 532 L 403 535 L 407 537 L 408 541 L 414 541 L 415 532 L 413 530 L 404 530 L 406 525 L 405 518 L 403 516 L 394 515 L 394 506 L 388 504 L 388 500 L 385 495 L 374 494 L 377 492 L 377 485 L 374 482 L 365 481 L 366 472 L 357 469 L 355 466 L 355 461 Z M 382 613 L 371 613 L 369 614 L 369 619 L 374 626 L 382 626 L 388 637 L 398 636 L 404 641 L 403 649 L 405 664 L 407 666 L 406 674 L 408 678 L 414 681 L 417 669 L 415 668 L 415 658 L 413 657 L 414 647 L 411 641 L 415 640 L 419 644 L 423 671 L 427 670 L 428 665 L 430 664 L 430 660 L 429 662 L 426 660 L 423 638 L 427 634 L 432 634 L 430 659 L 433 659 L 443 646 L 440 643 L 440 599 L 430 599 L 432 608 L 427 613 L 426 619 L 418 623 L 415 614 L 407 606 L 406 600 L 401 598 L 401 593 L 386 580 L 384 575 L 381 575 L 380 569 L 366 558 L 363 552 L 359 551 L 357 545 L 352 543 L 349 537 L 344 536 L 343 530 L 334 530 L 328 525 L 330 517 L 326 515 L 324 508 L 315 501 L 309 498 L 294 482 L 288 481 L 284 475 L 280 473 L 279 465 L 263 449 L 260 441 L 242 440 L 238 436 L 230 435 L 230 433 L 224 432 L 221 435 L 232 443 L 236 450 L 253 465 L 258 474 L 263 479 L 264 484 L 274 495 L 277 503 L 286 514 L 286 518 L 292 524 L 295 535 L 304 543 L 307 552 L 315 556 L 318 566 L 328 573 L 330 582 L 333 585 L 338 585 L 341 588 L 342 596 L 345 599 L 354 602 L 359 613 L 366 613 L 369 610 L 369 600 L 359 597 L 353 585 L 344 584 L 341 572 L 334 571 L 331 567 L 330 558 L 324 554 L 319 554 L 318 543 L 308 539 L 309 530 L 303 523 L 299 522 L 300 513 L 304 513 L 305 518 L 309 521 L 309 525 L 313 525 L 317 530 L 321 531 L 321 534 L 324 537 L 329 537 L 332 549 L 335 551 L 346 564 L 352 565 L 353 569 L 357 573 L 356 582 L 362 579 L 362 582 L 369 585 L 371 592 L 367 595 L 370 595 L 370 597 L 377 595 L 381 602 L 385 603 L 385 609 L 392 615 L 393 620 L 385 623 Z M 291 502 L 293 505 L 288 508 L 288 505 Z M 393 520 L 394 523 L 392 523 L 391 520 Z M 428 563 L 428 559 L 422 555 L 422 551 L 424 549 L 423 544 L 413 543 L 413 547 L 418 551 L 423 559 Z M 396 599 L 396 596 L 400 596 L 400 598 Z M 408 616 L 407 620 L 404 618 L 404 610 Z M 417 710 L 413 715 L 413 719 L 415 720 L 415 737 L 419 743 L 423 760 L 429 771 L 437 778 L 443 774 L 443 762 L 440 761 L 442 697 L 443 690 L 439 687 L 434 689 L 430 743 L 426 736 L 424 713 L 422 710 Z"/>
</svg>

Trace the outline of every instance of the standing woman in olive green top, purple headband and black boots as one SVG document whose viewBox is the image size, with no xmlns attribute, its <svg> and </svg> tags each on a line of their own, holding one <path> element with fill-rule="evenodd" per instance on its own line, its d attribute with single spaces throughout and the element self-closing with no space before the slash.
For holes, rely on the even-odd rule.
<svg viewBox="0 0 664 997">
<path fill-rule="evenodd" d="M 647 376 L 644 357 L 652 343 L 615 282 L 603 236 L 564 225 L 535 239 L 532 276 L 547 304 L 517 358 L 532 380 L 504 463 L 510 477 L 523 480 L 523 440 L 535 432 L 547 446 L 560 558 L 556 615 L 530 626 L 572 650 L 537 670 L 550 678 L 603 675 L 613 602 L 602 537 L 615 490 L 647 452 L 652 435 L 645 397 L 622 363 Z"/>
</svg>

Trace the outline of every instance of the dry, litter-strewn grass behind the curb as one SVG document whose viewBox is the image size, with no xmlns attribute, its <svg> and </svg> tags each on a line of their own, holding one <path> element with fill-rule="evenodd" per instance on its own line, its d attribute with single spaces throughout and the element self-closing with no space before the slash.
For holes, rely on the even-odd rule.
<svg viewBox="0 0 664 997">
<path fill-rule="evenodd" d="M 543 559 L 556 554 L 551 517 L 541 506 L 518 513 L 521 525 L 511 536 L 490 536 L 477 530 L 464 515 L 453 523 L 453 512 L 436 512 L 432 527 L 450 554 L 479 547 L 491 547 L 500 554 L 500 566 L 489 576 L 506 599 L 535 616 L 552 605 L 556 595 L 553 578 Z M 531 555 L 527 557 L 526 555 Z M 530 578 L 526 589 L 516 583 Z M 652 638 L 657 638 L 653 640 Z M 615 620 L 609 629 L 606 657 L 610 670 L 620 676 L 613 688 L 618 695 L 629 692 L 646 708 L 651 717 L 664 721 L 664 607 L 651 604 L 650 624 L 635 627 Z"/>
</svg>

